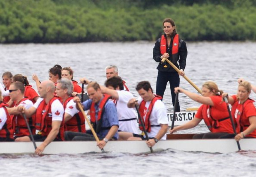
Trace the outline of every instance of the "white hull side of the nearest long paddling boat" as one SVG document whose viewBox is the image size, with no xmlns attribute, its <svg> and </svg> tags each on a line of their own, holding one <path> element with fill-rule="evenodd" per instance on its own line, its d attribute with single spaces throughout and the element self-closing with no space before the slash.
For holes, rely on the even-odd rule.
<svg viewBox="0 0 256 177">
<path fill-rule="evenodd" d="M 39 146 L 41 142 L 37 142 Z M 256 150 L 255 139 L 243 139 L 240 141 L 242 150 Z M 1 142 L 0 154 L 33 153 L 32 142 Z M 159 141 L 153 150 L 174 149 L 180 151 L 229 153 L 238 151 L 234 139 L 207 139 L 207 140 L 166 140 Z M 146 153 L 149 152 L 145 141 L 110 141 L 104 147 L 105 151 L 123 153 Z M 80 154 L 89 152 L 101 152 L 95 141 L 63 141 L 52 142 L 44 151 L 44 154 Z"/>
</svg>

